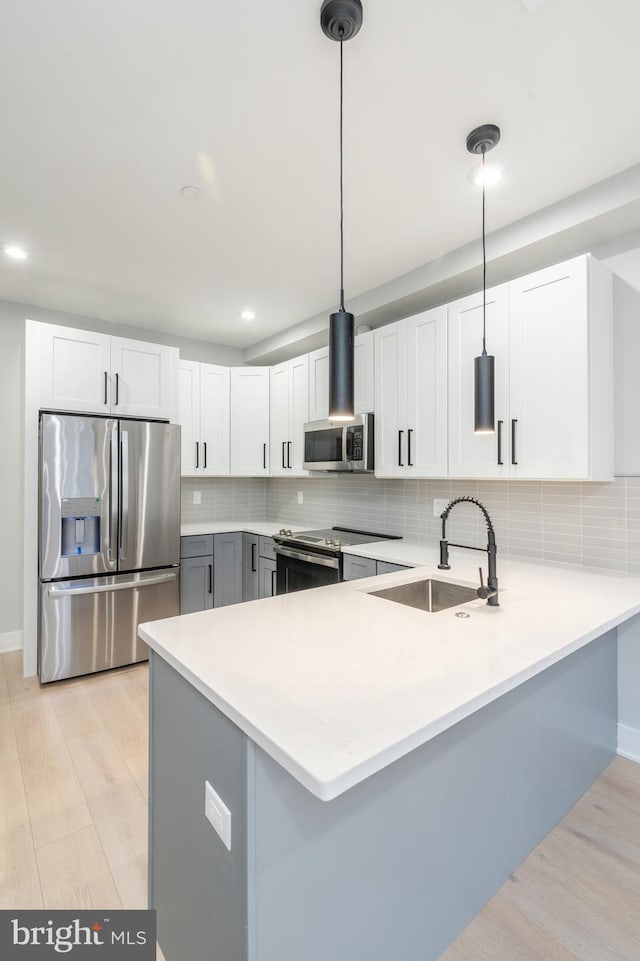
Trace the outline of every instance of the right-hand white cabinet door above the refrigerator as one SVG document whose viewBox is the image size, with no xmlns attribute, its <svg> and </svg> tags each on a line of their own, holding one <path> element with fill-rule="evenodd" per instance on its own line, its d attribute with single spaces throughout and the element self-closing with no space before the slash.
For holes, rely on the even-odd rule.
<svg viewBox="0 0 640 961">
<path fill-rule="evenodd" d="M 112 337 L 111 377 L 113 414 L 175 418 L 177 348 Z"/>
</svg>

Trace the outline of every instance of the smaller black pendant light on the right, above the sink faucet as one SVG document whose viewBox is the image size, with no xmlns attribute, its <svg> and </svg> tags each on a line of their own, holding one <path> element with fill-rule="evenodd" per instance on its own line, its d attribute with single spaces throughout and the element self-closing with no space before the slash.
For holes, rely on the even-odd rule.
<svg viewBox="0 0 640 961">
<path fill-rule="evenodd" d="M 495 357 L 487 353 L 487 251 L 485 237 L 485 177 L 484 158 L 500 140 L 500 128 L 493 123 L 476 127 L 467 137 L 467 150 L 482 154 L 482 353 L 473 362 L 474 373 L 474 431 L 492 434 L 495 431 Z"/>
</svg>

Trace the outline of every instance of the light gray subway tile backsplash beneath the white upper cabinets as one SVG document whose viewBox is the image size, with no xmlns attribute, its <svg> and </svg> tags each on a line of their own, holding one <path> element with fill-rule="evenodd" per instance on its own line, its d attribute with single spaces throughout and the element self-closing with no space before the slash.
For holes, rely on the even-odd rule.
<svg viewBox="0 0 640 961">
<path fill-rule="evenodd" d="M 192 503 L 194 490 L 202 492 L 200 505 Z M 465 494 L 477 497 L 489 511 L 500 557 L 640 574 L 640 477 L 617 477 L 612 483 L 382 480 L 344 474 L 291 480 L 189 478 L 182 482 L 182 519 L 268 518 L 301 529 L 355 527 L 432 544 L 435 553 L 441 521 L 433 516 L 433 499 Z M 477 508 L 454 508 L 447 536 L 484 547 Z"/>
</svg>

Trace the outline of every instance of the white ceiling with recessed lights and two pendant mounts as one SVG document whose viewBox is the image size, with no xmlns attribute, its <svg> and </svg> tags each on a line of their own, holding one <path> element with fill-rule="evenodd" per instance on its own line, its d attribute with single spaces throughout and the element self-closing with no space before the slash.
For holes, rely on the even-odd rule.
<svg viewBox="0 0 640 961">
<path fill-rule="evenodd" d="M 31 257 L 0 258 L 0 297 L 238 347 L 334 309 L 338 47 L 320 5 L 3 0 L 0 244 Z M 488 230 L 640 162 L 638 0 L 363 6 L 347 303 L 477 238 L 480 123 L 501 126 L 506 168 Z"/>
</svg>

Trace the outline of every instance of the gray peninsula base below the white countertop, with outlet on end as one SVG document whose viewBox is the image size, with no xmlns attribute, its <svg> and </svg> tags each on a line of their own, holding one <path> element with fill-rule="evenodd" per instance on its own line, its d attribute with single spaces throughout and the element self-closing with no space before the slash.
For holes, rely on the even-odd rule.
<svg viewBox="0 0 640 961">
<path fill-rule="evenodd" d="M 615 754 L 616 632 L 327 802 L 154 653 L 150 710 L 167 961 L 436 961 Z"/>
</svg>

